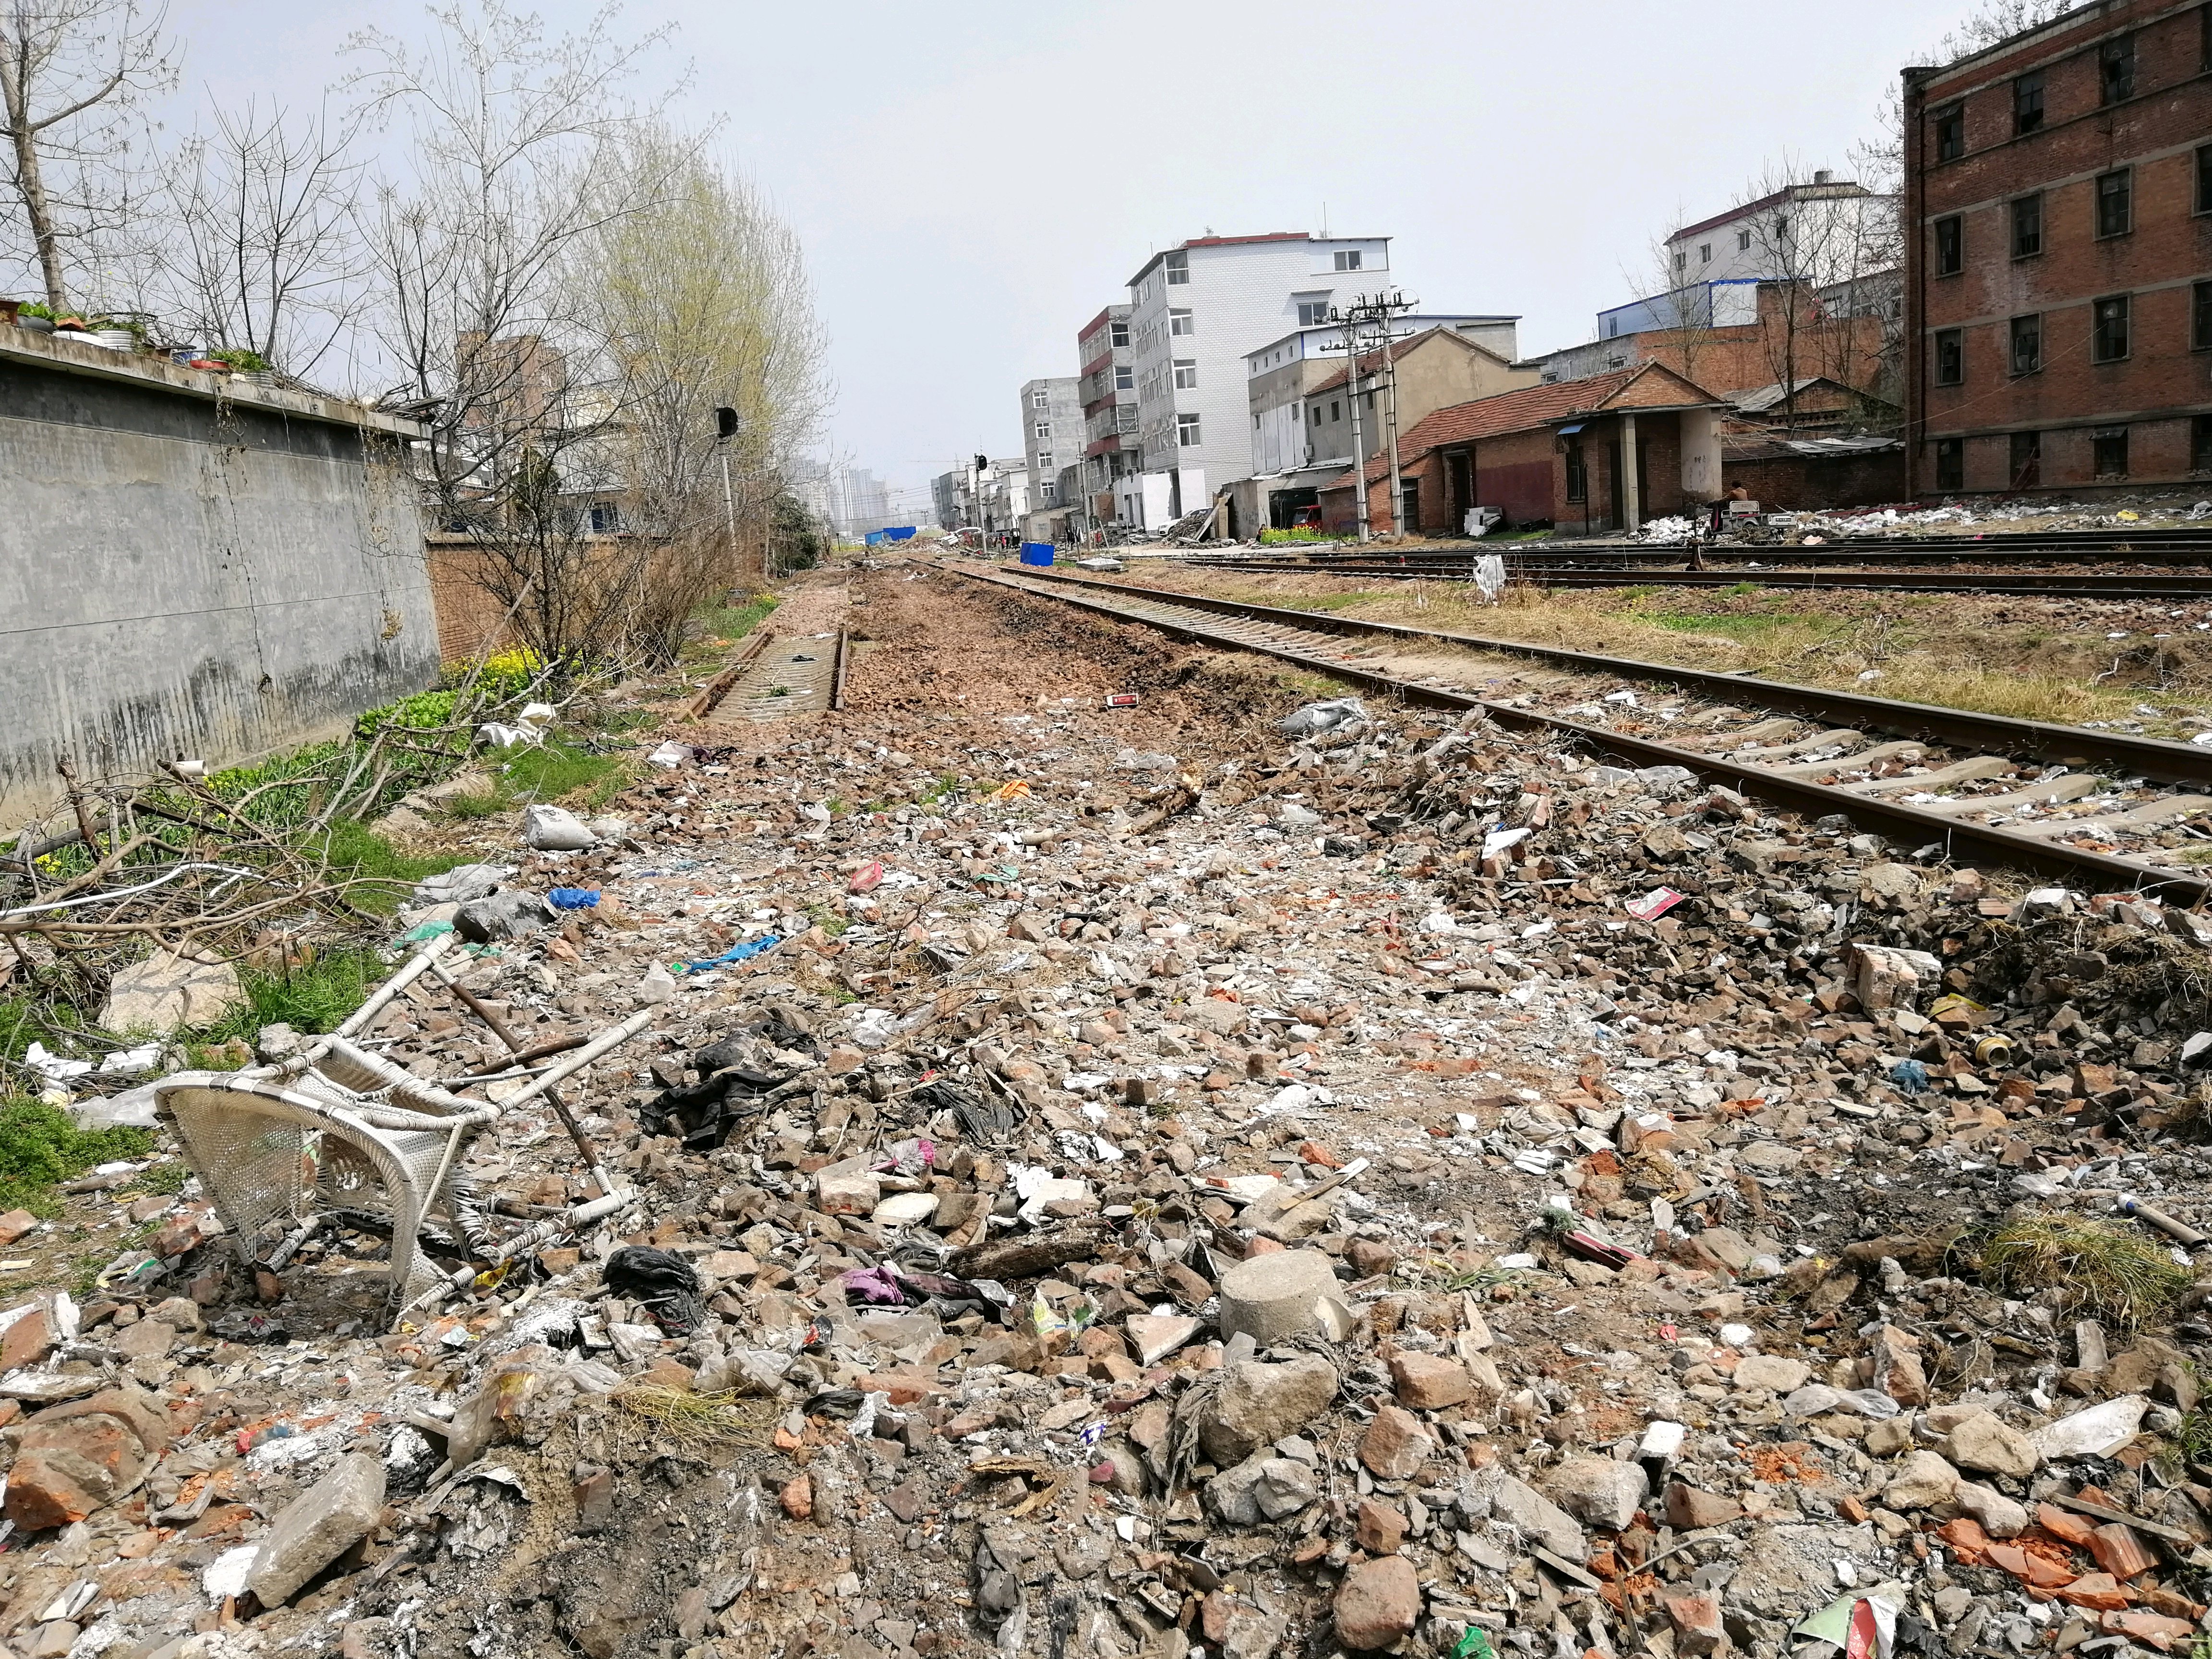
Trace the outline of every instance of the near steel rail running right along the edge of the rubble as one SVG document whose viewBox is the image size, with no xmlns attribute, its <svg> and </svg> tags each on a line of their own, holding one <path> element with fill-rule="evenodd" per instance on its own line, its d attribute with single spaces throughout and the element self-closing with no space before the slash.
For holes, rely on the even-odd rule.
<svg viewBox="0 0 2212 1659">
<path fill-rule="evenodd" d="M 1383 675 L 1371 668 L 1360 668 L 1356 664 L 1336 661 L 1334 657 L 1316 657 L 1303 650 L 1292 650 L 1281 644 L 1256 644 L 1250 639 L 1239 639 L 1237 635 L 1221 633 L 1214 628 L 1199 626 L 1197 622 L 1175 622 L 1172 617 L 1144 615 L 1126 604 L 1115 604 L 1104 597 L 1097 588 L 1106 584 L 1075 582 L 1073 591 L 1064 591 L 1062 577 L 1055 584 L 1044 584 L 1035 580 L 1018 580 L 1000 571 L 973 571 L 962 568 L 951 562 L 933 562 L 936 568 L 958 575 L 967 582 L 980 582 L 989 586 L 1004 588 L 1009 593 L 1024 593 L 1033 599 L 1060 599 L 1062 604 L 1073 604 L 1084 611 L 1095 611 L 1117 622 L 1139 622 L 1146 628 L 1157 628 L 1161 633 L 1192 639 L 1208 646 L 1225 646 L 1230 650 L 1252 650 L 1279 661 L 1294 664 L 1307 672 L 1325 675 L 1329 679 L 1363 686 L 1374 692 L 1398 697 L 1409 703 L 1427 703 L 1431 708 L 1451 710 L 1482 710 L 1498 726 L 1522 732 L 1551 732 L 1575 739 L 1590 750 L 1604 754 L 1617 754 L 1635 761 L 1637 765 L 1681 765 L 1697 776 L 1719 779 L 1732 790 L 1756 796 L 1767 805 L 1781 807 L 1785 812 L 1796 812 L 1809 818 L 1823 818 L 1829 814 L 1843 814 L 1845 818 L 1874 830 L 1891 841 L 1924 847 L 1940 845 L 1947 858 L 1971 856 L 1980 863 L 2008 865 L 2013 869 L 2028 869 L 2039 876 L 2055 878 L 2093 878 L 2088 885 L 2097 891 L 2161 891 L 2170 898 L 2185 900 L 2190 905 L 2203 902 L 2212 896 L 2212 880 L 2201 876 L 2185 876 L 2172 869 L 2159 869 L 2157 865 L 2141 863 L 2137 858 L 2119 858 L 2104 852 L 2086 852 L 2079 847 L 2066 847 L 2057 843 L 2037 841 L 2033 836 L 2017 836 L 2006 830 L 1991 830 L 1986 825 L 1962 823 L 1940 812 L 1924 812 L 1920 807 L 1905 805 L 1902 801 L 1887 801 L 1882 796 L 1851 794 L 1847 790 L 1836 790 L 1825 783 L 1807 783 L 1803 779 L 1783 776 L 1776 772 L 1765 772 L 1756 765 L 1743 765 L 1739 761 L 1728 761 L 1712 754 L 1699 754 L 1697 750 L 1674 748 L 1672 743 L 1655 743 L 1646 737 L 1628 737 L 1626 732 L 1613 732 L 1604 726 L 1584 726 L 1582 721 L 1566 719 L 1562 714 L 1540 714 L 1526 708 L 1513 708 L 1511 703 L 1493 703 L 1473 692 L 1447 690 L 1442 686 L 1422 686 L 1420 681 L 1398 679 L 1396 675 Z M 1155 595 L 1146 588 L 1106 588 L 1124 599 L 1152 599 L 1161 606 L 1172 606 L 1183 595 Z M 1203 608 L 1203 606 L 1199 606 Z M 1303 613 L 1301 622 L 1307 622 Z M 1734 681 L 1741 684 L 1741 681 Z"/>
</svg>

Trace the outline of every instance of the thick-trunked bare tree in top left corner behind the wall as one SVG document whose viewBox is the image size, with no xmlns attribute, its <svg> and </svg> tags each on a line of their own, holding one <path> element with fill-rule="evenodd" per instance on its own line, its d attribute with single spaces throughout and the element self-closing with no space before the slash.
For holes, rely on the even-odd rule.
<svg viewBox="0 0 2212 1659">
<path fill-rule="evenodd" d="M 69 310 L 82 241 L 115 230 L 135 201 L 128 150 L 137 100 L 175 82 L 166 11 L 137 0 L 0 4 L 0 139 L 18 210 L 15 252 L 46 303 Z"/>
</svg>

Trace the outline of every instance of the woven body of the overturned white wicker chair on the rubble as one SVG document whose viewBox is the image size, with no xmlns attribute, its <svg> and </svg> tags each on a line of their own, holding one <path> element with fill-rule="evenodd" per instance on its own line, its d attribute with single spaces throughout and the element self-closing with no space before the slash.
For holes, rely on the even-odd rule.
<svg viewBox="0 0 2212 1659">
<path fill-rule="evenodd" d="M 283 1071 L 186 1071 L 155 1086 L 248 1267 L 281 1265 L 321 1219 L 392 1228 L 394 1312 L 440 1279 L 418 1250 L 431 1214 L 473 1241 L 460 1175 L 469 1137 L 498 1108 L 449 1095 L 345 1037 L 321 1037 Z M 270 1232 L 279 1230 L 274 1261 Z"/>
</svg>

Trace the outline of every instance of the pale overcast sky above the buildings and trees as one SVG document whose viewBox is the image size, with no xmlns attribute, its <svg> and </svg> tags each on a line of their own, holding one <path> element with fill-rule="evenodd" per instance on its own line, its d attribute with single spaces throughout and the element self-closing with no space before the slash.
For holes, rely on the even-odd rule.
<svg viewBox="0 0 2212 1659">
<path fill-rule="evenodd" d="M 805 239 L 832 336 L 832 436 L 920 484 L 1020 453 L 1018 387 L 1155 248 L 1394 237 L 1425 310 L 1520 312 L 1524 352 L 1590 338 L 1648 243 L 1783 155 L 1845 168 L 1900 64 L 1966 0 L 1031 0 L 692 4 L 677 113 Z M 588 4 L 551 0 L 551 24 Z M 409 4 L 173 0 L 195 95 L 312 102 L 365 20 Z"/>
</svg>

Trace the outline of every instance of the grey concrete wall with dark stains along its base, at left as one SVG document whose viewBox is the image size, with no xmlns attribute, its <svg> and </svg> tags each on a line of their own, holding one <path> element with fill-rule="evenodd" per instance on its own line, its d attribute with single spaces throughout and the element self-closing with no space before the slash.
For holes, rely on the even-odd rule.
<svg viewBox="0 0 2212 1659">
<path fill-rule="evenodd" d="M 414 434 L 0 330 L 0 827 L 58 796 L 60 754 L 228 765 L 431 686 Z"/>
</svg>

